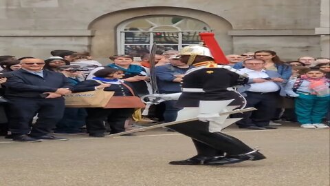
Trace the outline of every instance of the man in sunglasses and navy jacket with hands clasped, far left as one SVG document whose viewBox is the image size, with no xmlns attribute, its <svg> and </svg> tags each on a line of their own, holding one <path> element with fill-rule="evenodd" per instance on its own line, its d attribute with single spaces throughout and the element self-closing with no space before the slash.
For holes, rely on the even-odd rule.
<svg viewBox="0 0 330 186">
<path fill-rule="evenodd" d="M 21 69 L 12 72 L 5 83 L 13 141 L 63 139 L 51 133 L 63 116 L 63 95 L 71 93 L 73 86 L 63 74 L 43 70 L 44 65 L 43 59 L 23 59 Z M 37 113 L 38 119 L 30 127 Z"/>
</svg>

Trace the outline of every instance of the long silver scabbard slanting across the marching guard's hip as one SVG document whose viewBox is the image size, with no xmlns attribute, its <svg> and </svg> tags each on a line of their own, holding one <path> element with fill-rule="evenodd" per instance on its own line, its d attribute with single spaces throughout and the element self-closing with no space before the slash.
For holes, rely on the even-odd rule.
<svg viewBox="0 0 330 186">
<path fill-rule="evenodd" d="M 224 115 L 228 115 L 228 114 L 242 113 L 242 112 L 248 112 L 248 111 L 253 111 L 253 110 L 256 110 L 256 109 L 254 107 L 248 107 L 248 108 L 245 108 L 245 109 L 239 109 L 239 110 L 234 110 L 234 111 L 230 111 L 230 112 L 222 112 L 222 113 L 219 114 L 219 116 L 224 116 Z M 239 119 L 241 119 L 241 118 L 239 118 Z M 237 121 L 239 119 L 238 118 L 229 118 L 228 119 L 230 121 L 229 125 L 234 123 L 232 121 Z M 111 135 L 109 135 L 109 137 L 121 136 L 123 134 L 131 134 L 131 133 L 134 133 L 134 132 L 140 132 L 140 131 L 145 131 L 145 130 L 152 130 L 152 129 L 156 129 L 156 128 L 159 128 L 159 127 L 166 127 L 168 125 L 176 125 L 176 124 L 179 124 L 179 123 L 186 123 L 186 122 L 189 122 L 189 121 L 196 121 L 196 120 L 198 120 L 198 118 L 189 118 L 189 119 L 185 119 L 185 120 L 181 120 L 181 121 L 172 121 L 172 122 L 168 122 L 168 123 L 162 123 L 162 124 L 159 124 L 159 125 L 153 125 L 153 126 L 150 126 L 150 127 L 143 127 L 143 128 L 139 128 L 139 129 L 135 129 L 135 130 L 129 130 L 129 131 L 125 131 L 125 132 L 119 132 L 119 133 L 116 133 L 116 134 L 111 134 Z M 228 127 L 228 126 L 226 126 L 226 127 Z"/>
</svg>

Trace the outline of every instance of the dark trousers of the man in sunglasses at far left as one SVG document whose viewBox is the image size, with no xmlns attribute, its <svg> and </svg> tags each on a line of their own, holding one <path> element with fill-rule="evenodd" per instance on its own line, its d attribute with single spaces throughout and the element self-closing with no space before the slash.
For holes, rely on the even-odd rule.
<svg viewBox="0 0 330 186">
<path fill-rule="evenodd" d="M 63 97 L 56 99 L 8 98 L 9 130 L 12 134 L 43 136 L 50 134 L 56 123 L 63 117 L 65 103 Z M 33 117 L 38 113 L 36 123 L 30 127 Z"/>
</svg>

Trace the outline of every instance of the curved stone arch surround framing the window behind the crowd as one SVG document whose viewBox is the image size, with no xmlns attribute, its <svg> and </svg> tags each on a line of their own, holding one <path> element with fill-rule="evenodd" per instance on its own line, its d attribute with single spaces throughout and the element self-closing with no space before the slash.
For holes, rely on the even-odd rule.
<svg viewBox="0 0 330 186">
<path fill-rule="evenodd" d="M 232 30 L 232 25 L 225 19 L 217 15 L 193 10 L 188 8 L 173 7 L 148 7 L 148 8 L 132 8 L 111 12 L 98 17 L 89 24 L 89 29 L 94 30 L 94 37 L 91 38 L 91 54 L 98 56 L 98 60 L 104 61 L 113 54 L 118 54 L 118 45 L 120 42 L 117 37 L 120 25 L 127 21 L 132 21 L 137 17 L 154 17 L 159 16 L 177 16 L 187 17 L 206 23 L 212 32 L 214 32 L 217 41 L 226 54 L 232 52 L 232 37 L 228 35 L 228 31 Z"/>
</svg>

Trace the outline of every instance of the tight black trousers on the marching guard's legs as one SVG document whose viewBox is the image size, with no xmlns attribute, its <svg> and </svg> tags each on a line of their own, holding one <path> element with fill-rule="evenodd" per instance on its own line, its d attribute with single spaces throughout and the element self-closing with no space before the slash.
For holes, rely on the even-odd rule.
<svg viewBox="0 0 330 186">
<path fill-rule="evenodd" d="M 229 155 L 238 155 L 253 150 L 233 136 L 221 132 L 209 132 L 208 122 L 190 121 L 169 125 L 168 128 L 192 138 L 198 155 L 221 156 L 224 152 Z"/>
</svg>

